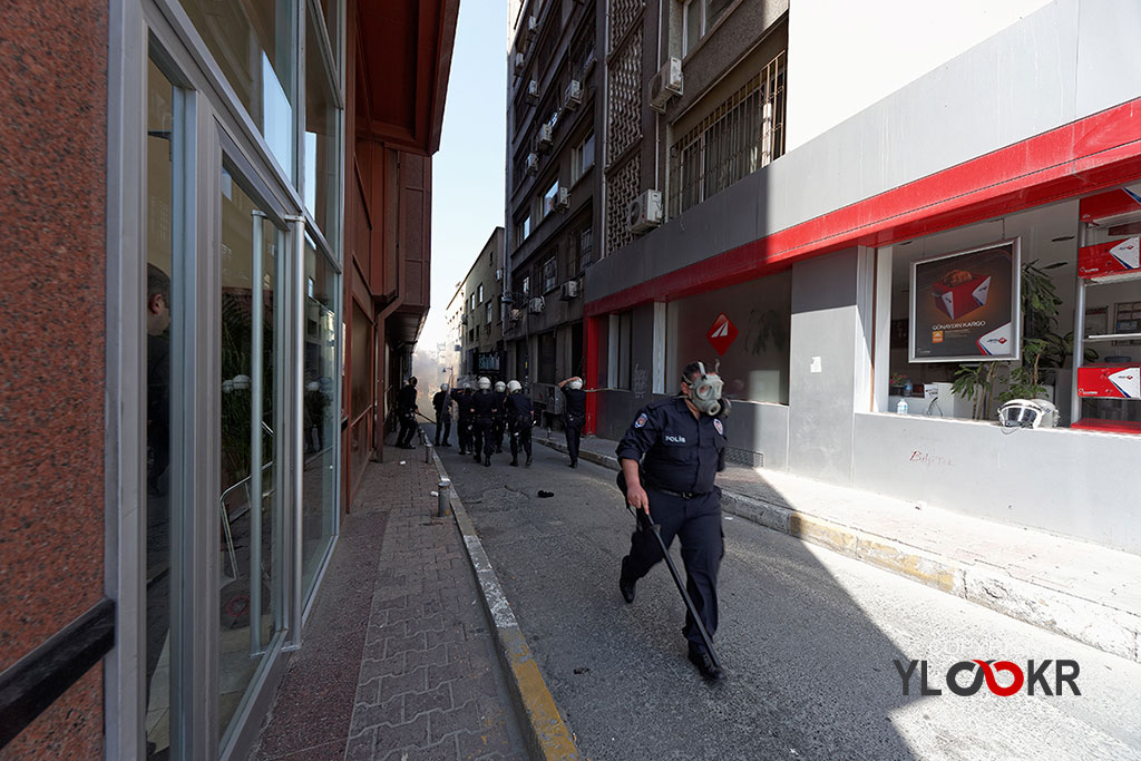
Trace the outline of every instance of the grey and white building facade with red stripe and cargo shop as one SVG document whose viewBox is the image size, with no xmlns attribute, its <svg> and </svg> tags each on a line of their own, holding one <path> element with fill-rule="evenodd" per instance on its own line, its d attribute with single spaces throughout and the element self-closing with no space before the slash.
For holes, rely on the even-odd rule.
<svg viewBox="0 0 1141 761">
<path fill-rule="evenodd" d="M 737 462 L 1141 551 L 1136 3 L 606 14 L 588 426 L 720 361 Z"/>
</svg>

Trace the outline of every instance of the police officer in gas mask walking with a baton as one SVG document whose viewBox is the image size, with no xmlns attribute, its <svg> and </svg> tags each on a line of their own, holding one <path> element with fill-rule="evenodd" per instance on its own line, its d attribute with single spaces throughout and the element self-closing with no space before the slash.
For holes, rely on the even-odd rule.
<svg viewBox="0 0 1141 761">
<path fill-rule="evenodd" d="M 717 631 L 717 576 L 725 554 L 721 534 L 721 489 L 713 484 L 725 470 L 725 422 L 728 403 L 721 398 L 721 379 L 698 362 L 686 365 L 681 392 L 642 407 L 617 446 L 626 502 L 642 510 L 661 527 L 669 547 L 681 540 L 686 590 L 709 632 Z M 630 553 L 622 559 L 618 589 L 634 601 L 634 584 L 662 559 L 649 529 L 630 537 Z M 710 657 L 696 622 L 686 614 L 682 633 L 689 659 L 706 679 L 722 672 Z"/>
</svg>

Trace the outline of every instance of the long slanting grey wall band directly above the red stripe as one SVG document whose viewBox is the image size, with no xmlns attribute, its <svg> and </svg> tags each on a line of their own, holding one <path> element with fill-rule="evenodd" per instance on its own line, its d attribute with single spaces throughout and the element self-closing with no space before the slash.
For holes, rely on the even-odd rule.
<svg viewBox="0 0 1141 761">
<path fill-rule="evenodd" d="M 585 292 L 604 298 L 1136 98 L 1141 66 L 1118 51 L 1138 29 L 1133 0 L 1057 0 L 599 261 Z"/>
</svg>

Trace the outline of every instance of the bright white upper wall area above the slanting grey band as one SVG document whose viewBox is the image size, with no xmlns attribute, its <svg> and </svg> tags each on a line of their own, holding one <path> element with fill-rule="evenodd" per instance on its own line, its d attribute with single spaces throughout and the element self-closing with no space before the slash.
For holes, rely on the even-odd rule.
<svg viewBox="0 0 1141 761">
<path fill-rule="evenodd" d="M 1049 2 L 796 0 L 786 146 L 803 145 Z"/>
</svg>

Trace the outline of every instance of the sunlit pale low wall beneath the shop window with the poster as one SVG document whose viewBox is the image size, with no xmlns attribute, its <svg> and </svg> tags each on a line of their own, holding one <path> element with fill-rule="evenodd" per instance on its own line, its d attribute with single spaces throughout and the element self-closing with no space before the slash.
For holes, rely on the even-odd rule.
<svg viewBox="0 0 1141 761">
<path fill-rule="evenodd" d="M 855 443 L 858 488 L 1141 553 L 1141 437 L 865 413 Z"/>
</svg>

